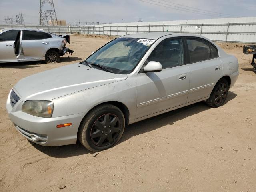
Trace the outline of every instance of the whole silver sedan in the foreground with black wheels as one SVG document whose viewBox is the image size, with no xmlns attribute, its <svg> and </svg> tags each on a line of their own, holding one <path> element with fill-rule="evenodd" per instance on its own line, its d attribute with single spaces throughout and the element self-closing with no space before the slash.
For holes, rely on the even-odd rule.
<svg viewBox="0 0 256 192">
<path fill-rule="evenodd" d="M 202 36 L 130 34 L 80 63 L 20 80 L 6 108 L 28 140 L 88 150 L 114 146 L 125 126 L 196 102 L 225 103 L 238 60 Z"/>
</svg>

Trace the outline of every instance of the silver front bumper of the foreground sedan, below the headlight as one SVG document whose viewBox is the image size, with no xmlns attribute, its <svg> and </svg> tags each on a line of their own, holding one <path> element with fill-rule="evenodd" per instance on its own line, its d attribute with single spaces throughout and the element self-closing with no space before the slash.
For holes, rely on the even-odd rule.
<svg viewBox="0 0 256 192">
<path fill-rule="evenodd" d="M 43 146 L 60 146 L 76 143 L 78 128 L 84 117 L 83 113 L 54 118 L 41 118 L 22 112 L 22 104 L 23 102 L 19 100 L 12 108 L 9 94 L 6 109 L 16 130 L 28 140 Z M 57 125 L 65 123 L 72 123 L 72 125 L 56 128 Z M 33 140 L 32 134 L 38 136 L 40 140 Z"/>
</svg>

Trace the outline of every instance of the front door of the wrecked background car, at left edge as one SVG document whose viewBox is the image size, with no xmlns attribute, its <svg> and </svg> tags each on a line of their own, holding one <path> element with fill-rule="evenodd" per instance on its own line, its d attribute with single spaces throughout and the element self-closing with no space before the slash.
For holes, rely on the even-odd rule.
<svg viewBox="0 0 256 192">
<path fill-rule="evenodd" d="M 17 62 L 14 43 L 19 30 L 8 30 L 0 34 L 0 62 Z"/>
</svg>

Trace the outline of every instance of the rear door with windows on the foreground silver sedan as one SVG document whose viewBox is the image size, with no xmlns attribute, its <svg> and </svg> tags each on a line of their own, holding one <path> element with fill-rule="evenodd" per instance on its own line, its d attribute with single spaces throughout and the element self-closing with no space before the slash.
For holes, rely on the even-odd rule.
<svg viewBox="0 0 256 192">
<path fill-rule="evenodd" d="M 217 48 L 203 38 L 186 38 L 190 60 L 190 92 L 188 102 L 208 98 L 222 74 Z"/>
</svg>

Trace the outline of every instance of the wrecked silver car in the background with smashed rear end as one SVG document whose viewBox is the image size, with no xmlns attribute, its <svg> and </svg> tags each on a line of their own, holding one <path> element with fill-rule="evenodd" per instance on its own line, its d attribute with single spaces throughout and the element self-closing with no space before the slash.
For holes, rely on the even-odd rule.
<svg viewBox="0 0 256 192">
<path fill-rule="evenodd" d="M 69 35 L 56 35 L 28 28 L 0 30 L 0 63 L 45 60 L 60 61 L 70 43 Z M 73 52 L 73 51 L 72 51 Z"/>
</svg>

